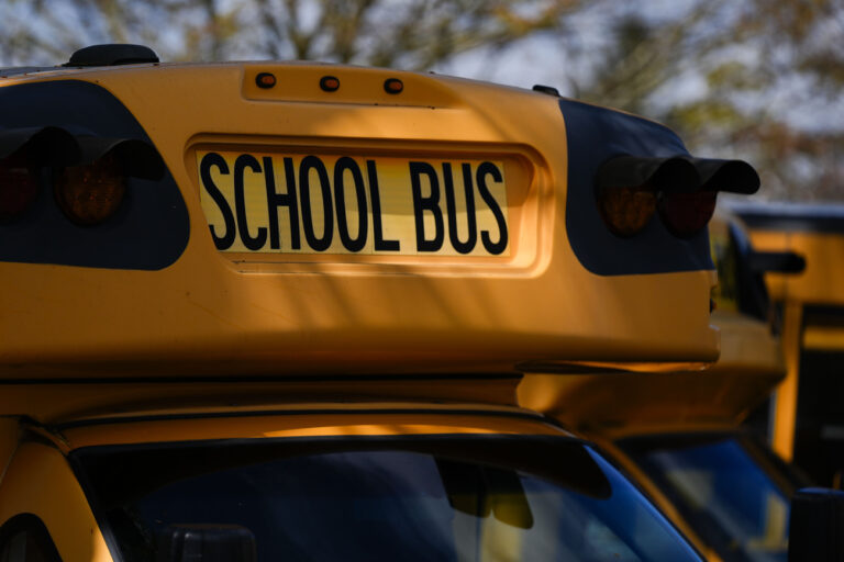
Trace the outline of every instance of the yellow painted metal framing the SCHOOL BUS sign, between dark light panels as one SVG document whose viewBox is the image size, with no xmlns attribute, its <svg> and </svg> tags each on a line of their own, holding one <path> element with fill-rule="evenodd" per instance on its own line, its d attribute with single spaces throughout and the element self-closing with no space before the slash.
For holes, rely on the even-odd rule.
<svg viewBox="0 0 844 562">
<path fill-rule="evenodd" d="M 163 65 L 74 75 L 114 93 L 144 125 L 185 195 L 190 240 L 162 271 L 0 263 L 10 288 L 0 292 L 0 376 L 512 372 L 526 363 L 717 358 L 708 317 L 712 271 L 597 276 L 573 254 L 556 99 L 414 75 L 414 88 L 433 92 L 433 109 L 362 104 L 357 94 L 331 97 L 297 81 L 291 95 L 310 101 L 258 100 L 254 92 L 244 98 L 245 68 Z M 279 79 L 301 70 L 274 68 Z M 392 76 L 343 71 L 344 88 L 349 77 L 380 88 Z M 58 78 L 67 75 L 37 80 Z M 334 146 L 334 154 L 358 156 L 415 150 L 442 160 L 444 153 L 482 153 L 506 168 L 520 161 L 506 170 L 508 186 L 513 181 L 521 193 L 508 201 L 509 256 L 470 263 L 452 256 L 235 263 L 214 247 L 202 211 L 196 150 L 208 143 L 256 154 L 274 146 L 326 154 L 321 150 Z M 520 166 L 522 172 L 511 173 Z"/>
</svg>

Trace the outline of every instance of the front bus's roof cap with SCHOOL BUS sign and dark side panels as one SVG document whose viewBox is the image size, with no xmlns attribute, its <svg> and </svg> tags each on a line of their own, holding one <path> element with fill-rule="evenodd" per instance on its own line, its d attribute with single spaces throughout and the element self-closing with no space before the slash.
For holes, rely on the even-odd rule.
<svg viewBox="0 0 844 562">
<path fill-rule="evenodd" d="M 9 76 L 0 125 L 7 145 L 119 147 L 133 175 L 111 222 L 79 227 L 73 201 L 42 193 L 0 224 L 5 379 L 718 356 L 706 232 L 654 220 L 620 238 L 595 205 L 610 156 L 685 154 L 638 117 L 433 75 L 237 63 Z"/>
</svg>

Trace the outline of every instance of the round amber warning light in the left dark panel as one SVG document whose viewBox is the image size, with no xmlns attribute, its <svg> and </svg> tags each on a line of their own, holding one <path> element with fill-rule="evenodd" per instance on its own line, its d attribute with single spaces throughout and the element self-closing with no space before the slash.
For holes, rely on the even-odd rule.
<svg viewBox="0 0 844 562">
<path fill-rule="evenodd" d="M 92 164 L 56 172 L 54 191 L 65 216 L 80 226 L 93 226 L 118 211 L 126 191 L 126 177 L 111 153 Z"/>
</svg>

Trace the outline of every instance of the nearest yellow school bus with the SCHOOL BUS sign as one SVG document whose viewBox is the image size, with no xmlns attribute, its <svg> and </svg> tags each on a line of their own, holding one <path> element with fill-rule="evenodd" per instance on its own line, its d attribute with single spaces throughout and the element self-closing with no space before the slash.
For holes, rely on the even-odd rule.
<svg viewBox="0 0 844 562">
<path fill-rule="evenodd" d="M 547 88 L 2 76 L 0 560 L 700 560 L 515 390 L 714 361 L 748 165 Z"/>
</svg>

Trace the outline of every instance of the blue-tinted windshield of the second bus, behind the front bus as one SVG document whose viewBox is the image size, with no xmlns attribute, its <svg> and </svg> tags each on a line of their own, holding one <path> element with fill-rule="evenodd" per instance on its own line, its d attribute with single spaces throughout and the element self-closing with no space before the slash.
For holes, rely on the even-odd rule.
<svg viewBox="0 0 844 562">
<path fill-rule="evenodd" d="M 740 434 L 632 438 L 619 443 L 724 562 L 788 559 L 799 476 Z"/>
</svg>

